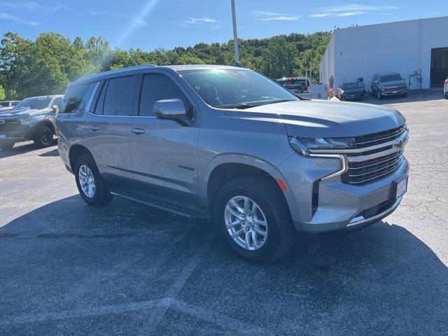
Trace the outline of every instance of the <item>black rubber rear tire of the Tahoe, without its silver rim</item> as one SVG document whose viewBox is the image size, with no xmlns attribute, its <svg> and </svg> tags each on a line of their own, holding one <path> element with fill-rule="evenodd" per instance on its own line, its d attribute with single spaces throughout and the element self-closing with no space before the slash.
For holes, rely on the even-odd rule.
<svg viewBox="0 0 448 336">
<path fill-rule="evenodd" d="M 87 166 L 93 175 L 95 190 L 94 195 L 92 197 L 88 197 L 80 186 L 79 169 L 83 165 Z M 78 160 L 76 160 L 74 173 L 75 173 L 76 186 L 78 187 L 79 194 L 81 195 L 81 197 L 83 197 L 83 200 L 87 204 L 100 206 L 109 204 L 109 202 L 111 202 L 113 195 L 109 193 L 109 187 L 107 186 L 106 181 L 104 181 L 101 174 L 99 174 L 97 164 L 94 162 L 92 155 L 89 154 L 81 155 L 78 158 Z"/>
</svg>

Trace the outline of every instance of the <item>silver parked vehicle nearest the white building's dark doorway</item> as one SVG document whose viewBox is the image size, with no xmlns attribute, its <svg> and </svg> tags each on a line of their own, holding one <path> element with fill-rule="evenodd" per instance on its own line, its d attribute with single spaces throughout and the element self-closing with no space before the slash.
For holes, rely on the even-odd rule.
<svg viewBox="0 0 448 336">
<path fill-rule="evenodd" d="M 385 96 L 407 96 L 407 84 L 398 72 L 376 73 L 371 88 L 378 99 Z"/>
</svg>

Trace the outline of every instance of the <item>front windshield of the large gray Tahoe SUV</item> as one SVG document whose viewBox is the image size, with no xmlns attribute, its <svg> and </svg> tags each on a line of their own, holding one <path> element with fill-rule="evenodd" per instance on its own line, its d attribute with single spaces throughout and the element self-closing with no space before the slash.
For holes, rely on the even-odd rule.
<svg viewBox="0 0 448 336">
<path fill-rule="evenodd" d="M 207 104 L 244 108 L 297 100 L 290 91 L 255 71 L 203 69 L 179 71 Z"/>
</svg>

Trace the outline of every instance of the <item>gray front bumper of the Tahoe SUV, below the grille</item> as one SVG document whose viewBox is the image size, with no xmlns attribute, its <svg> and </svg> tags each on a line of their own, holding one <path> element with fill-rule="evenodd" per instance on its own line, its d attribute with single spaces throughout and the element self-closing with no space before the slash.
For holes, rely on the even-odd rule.
<svg viewBox="0 0 448 336">
<path fill-rule="evenodd" d="M 285 196 L 297 231 L 351 230 L 380 221 L 398 207 L 407 187 L 405 158 L 391 174 L 361 186 L 344 183 L 341 175 L 322 179 L 339 167 L 337 158 L 299 155 L 278 167 L 288 184 Z"/>
</svg>

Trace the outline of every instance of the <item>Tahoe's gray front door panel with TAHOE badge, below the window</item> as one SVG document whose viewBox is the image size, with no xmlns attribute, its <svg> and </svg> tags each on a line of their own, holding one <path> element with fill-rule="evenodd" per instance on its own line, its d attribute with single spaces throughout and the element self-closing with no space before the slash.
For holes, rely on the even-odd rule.
<svg viewBox="0 0 448 336">
<path fill-rule="evenodd" d="M 132 170 L 137 191 L 153 197 L 197 199 L 197 127 L 183 127 L 173 120 L 131 118 Z M 138 183 L 141 182 L 141 183 Z"/>
</svg>

